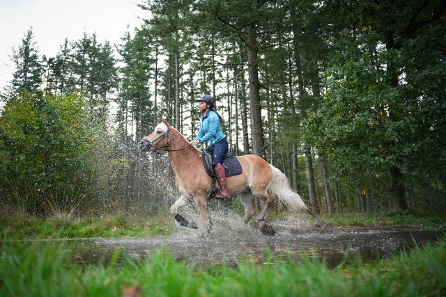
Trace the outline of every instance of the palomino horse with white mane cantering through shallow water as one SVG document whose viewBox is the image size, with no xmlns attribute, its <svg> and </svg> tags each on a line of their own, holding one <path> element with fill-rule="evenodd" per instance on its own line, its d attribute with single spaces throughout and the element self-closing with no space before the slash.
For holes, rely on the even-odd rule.
<svg viewBox="0 0 446 297">
<path fill-rule="evenodd" d="M 155 127 L 152 134 L 143 138 L 139 143 L 141 151 L 165 150 L 176 173 L 175 185 L 180 191 L 180 198 L 171 206 L 172 216 L 180 225 L 192 227 L 185 218 L 178 214 L 178 209 L 194 200 L 199 208 L 201 217 L 210 232 L 212 223 L 208 211 L 208 193 L 213 179 L 203 167 L 201 151 L 190 145 L 186 138 L 172 128 L 166 120 L 162 120 Z M 227 178 L 229 195 L 240 195 L 240 202 L 245 208 L 245 224 L 254 215 L 252 196 L 263 199 L 264 207 L 257 220 L 265 220 L 266 211 L 270 208 L 275 197 L 285 202 L 295 211 L 308 211 L 300 195 L 291 191 L 286 176 L 279 169 L 255 154 L 237 156 L 243 168 L 240 175 Z"/>
</svg>

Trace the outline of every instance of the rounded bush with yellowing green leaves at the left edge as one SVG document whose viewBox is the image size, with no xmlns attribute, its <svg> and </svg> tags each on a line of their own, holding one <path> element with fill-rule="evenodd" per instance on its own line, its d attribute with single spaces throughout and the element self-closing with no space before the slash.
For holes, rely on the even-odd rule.
<svg viewBox="0 0 446 297">
<path fill-rule="evenodd" d="M 0 118 L 3 199 L 26 201 L 24 210 L 40 212 L 49 197 L 77 200 L 88 193 L 93 128 L 77 95 L 10 99 Z"/>
</svg>

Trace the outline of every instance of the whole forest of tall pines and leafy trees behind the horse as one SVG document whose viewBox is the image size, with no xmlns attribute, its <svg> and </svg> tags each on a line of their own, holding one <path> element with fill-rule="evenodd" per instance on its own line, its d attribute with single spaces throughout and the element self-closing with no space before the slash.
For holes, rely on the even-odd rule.
<svg viewBox="0 0 446 297">
<path fill-rule="evenodd" d="M 4 214 L 167 212 L 169 160 L 137 143 L 162 118 L 192 140 L 202 94 L 232 152 L 281 169 L 314 214 L 445 211 L 446 1 L 138 6 L 151 17 L 119 44 L 85 32 L 45 56 L 30 28 L 13 49 Z"/>
</svg>

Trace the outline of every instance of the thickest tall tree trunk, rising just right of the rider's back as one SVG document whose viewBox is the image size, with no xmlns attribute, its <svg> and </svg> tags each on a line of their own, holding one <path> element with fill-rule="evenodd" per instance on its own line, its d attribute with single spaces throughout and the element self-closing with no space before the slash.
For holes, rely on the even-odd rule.
<svg viewBox="0 0 446 297">
<path fill-rule="evenodd" d="M 263 127 L 259 92 L 259 68 L 257 65 L 257 35 L 253 26 L 247 26 L 249 103 L 251 108 L 252 152 L 263 156 Z"/>
</svg>

